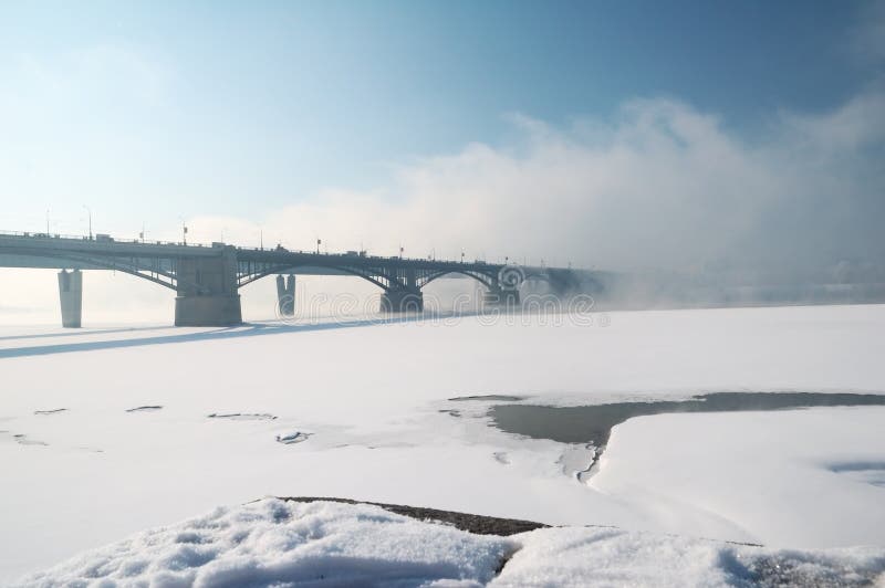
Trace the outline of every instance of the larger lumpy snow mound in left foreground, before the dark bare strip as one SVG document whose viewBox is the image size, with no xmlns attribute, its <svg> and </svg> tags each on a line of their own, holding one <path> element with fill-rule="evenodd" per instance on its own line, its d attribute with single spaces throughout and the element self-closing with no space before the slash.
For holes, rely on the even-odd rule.
<svg viewBox="0 0 885 588">
<path fill-rule="evenodd" d="M 22 586 L 478 586 L 513 550 L 369 505 L 268 498 L 139 533 Z"/>
</svg>

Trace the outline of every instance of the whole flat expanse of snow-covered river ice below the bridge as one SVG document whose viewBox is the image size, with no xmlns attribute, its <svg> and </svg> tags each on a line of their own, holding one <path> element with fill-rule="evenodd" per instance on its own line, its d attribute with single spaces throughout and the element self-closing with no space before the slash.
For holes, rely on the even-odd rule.
<svg viewBox="0 0 885 588">
<path fill-rule="evenodd" d="M 267 495 L 771 548 L 885 546 L 883 407 L 633 419 L 613 430 L 597 471 L 581 483 L 565 474 L 583 468 L 583 448 L 488 427 L 493 400 L 448 400 L 883 392 L 885 306 L 610 316 L 606 327 L 466 317 L 445 325 L 3 328 L 0 584 Z M 140 407 L 160 408 L 132 411 Z M 311 437 L 277 441 L 295 431 Z"/>
</svg>

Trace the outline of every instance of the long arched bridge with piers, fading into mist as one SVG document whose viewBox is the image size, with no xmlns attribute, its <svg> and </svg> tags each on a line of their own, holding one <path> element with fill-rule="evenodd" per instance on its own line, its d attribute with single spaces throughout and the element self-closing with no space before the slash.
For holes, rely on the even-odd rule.
<svg viewBox="0 0 885 588">
<path fill-rule="evenodd" d="M 562 267 L 517 266 L 482 261 L 437 261 L 367 255 L 364 251 L 320 253 L 273 249 L 145 242 L 107 234 L 66 237 L 0 232 L 0 267 L 58 269 L 62 324 L 79 327 L 82 317 L 83 270 L 132 274 L 176 293 L 176 326 L 228 326 L 242 323 L 239 288 L 277 276 L 279 308 L 294 309 L 296 273 L 354 275 L 382 288 L 381 311 L 421 312 L 421 288 L 445 275 L 460 274 L 485 286 L 486 305 L 516 307 L 525 280 L 543 280 L 552 292 L 597 292 L 593 272 Z"/>
</svg>

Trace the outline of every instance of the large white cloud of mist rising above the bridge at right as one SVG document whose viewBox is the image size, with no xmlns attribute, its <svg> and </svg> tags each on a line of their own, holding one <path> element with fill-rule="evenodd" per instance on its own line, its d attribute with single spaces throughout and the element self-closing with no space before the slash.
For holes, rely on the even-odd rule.
<svg viewBox="0 0 885 588">
<path fill-rule="evenodd" d="M 379 254 L 524 256 L 691 271 L 747 262 L 827 265 L 882 252 L 885 96 L 783 114 L 749 145 L 670 99 L 626 103 L 570 128 L 514 116 L 522 143 L 471 144 L 397 168 L 368 192 L 330 189 L 263 221 L 191 219 L 192 234 Z M 821 208 L 822 204 L 826 204 Z M 860 224 L 857 224 L 860 223 Z M 864 240 L 865 239 L 865 240 Z"/>
</svg>

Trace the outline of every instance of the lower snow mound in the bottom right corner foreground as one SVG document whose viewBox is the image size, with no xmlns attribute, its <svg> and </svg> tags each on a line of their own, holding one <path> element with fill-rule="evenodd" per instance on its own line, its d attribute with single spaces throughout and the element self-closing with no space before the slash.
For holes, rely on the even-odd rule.
<svg viewBox="0 0 885 588">
<path fill-rule="evenodd" d="M 542 528 L 494 587 L 885 586 L 885 549 L 788 550 L 612 527 Z"/>
</svg>

